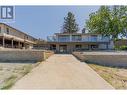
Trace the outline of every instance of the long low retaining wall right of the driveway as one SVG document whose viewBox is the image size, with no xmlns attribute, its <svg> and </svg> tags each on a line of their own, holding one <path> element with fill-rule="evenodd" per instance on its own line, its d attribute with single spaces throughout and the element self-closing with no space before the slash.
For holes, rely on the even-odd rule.
<svg viewBox="0 0 127 95">
<path fill-rule="evenodd" d="M 73 52 L 81 61 L 107 66 L 127 67 L 127 52 Z"/>
</svg>

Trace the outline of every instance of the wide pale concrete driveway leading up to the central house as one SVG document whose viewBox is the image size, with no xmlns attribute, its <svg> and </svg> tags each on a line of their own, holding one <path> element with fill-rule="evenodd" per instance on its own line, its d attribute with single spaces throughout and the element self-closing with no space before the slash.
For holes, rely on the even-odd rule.
<svg viewBox="0 0 127 95">
<path fill-rule="evenodd" d="M 55 54 L 17 81 L 12 89 L 113 89 L 86 63 Z"/>
</svg>

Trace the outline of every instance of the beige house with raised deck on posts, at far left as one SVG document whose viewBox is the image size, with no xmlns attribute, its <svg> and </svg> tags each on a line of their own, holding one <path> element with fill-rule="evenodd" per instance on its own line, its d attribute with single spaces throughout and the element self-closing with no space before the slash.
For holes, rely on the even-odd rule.
<svg viewBox="0 0 127 95">
<path fill-rule="evenodd" d="M 32 48 L 36 39 L 9 25 L 0 23 L 0 47 L 1 48 Z"/>
</svg>

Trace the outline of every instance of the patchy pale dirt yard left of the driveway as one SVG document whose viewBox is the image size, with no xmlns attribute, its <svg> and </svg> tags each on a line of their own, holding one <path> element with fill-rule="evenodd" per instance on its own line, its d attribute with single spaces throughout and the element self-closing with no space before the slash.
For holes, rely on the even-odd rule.
<svg viewBox="0 0 127 95">
<path fill-rule="evenodd" d="M 0 63 L 0 89 L 9 89 L 39 63 Z"/>
</svg>

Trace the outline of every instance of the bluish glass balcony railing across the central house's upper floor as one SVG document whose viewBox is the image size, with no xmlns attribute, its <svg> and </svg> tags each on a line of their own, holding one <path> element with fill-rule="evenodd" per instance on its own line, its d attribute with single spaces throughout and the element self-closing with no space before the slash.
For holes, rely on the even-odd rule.
<svg viewBox="0 0 127 95">
<path fill-rule="evenodd" d="M 83 39 L 83 38 L 57 38 L 57 37 L 52 37 L 52 36 L 49 36 L 47 37 L 47 41 L 48 42 L 109 42 L 109 38 L 108 37 L 105 37 L 105 38 L 98 38 L 98 37 L 89 37 L 89 38 L 86 38 L 86 39 Z"/>
</svg>

